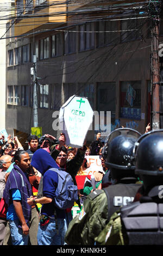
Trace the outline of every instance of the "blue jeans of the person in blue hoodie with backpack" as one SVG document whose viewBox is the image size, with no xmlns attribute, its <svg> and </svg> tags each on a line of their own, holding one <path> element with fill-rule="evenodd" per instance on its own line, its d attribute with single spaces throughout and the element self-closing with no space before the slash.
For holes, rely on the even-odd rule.
<svg viewBox="0 0 163 256">
<path fill-rule="evenodd" d="M 55 219 L 50 218 L 46 225 L 39 223 L 37 233 L 38 245 L 62 245 L 62 233 L 64 232 L 64 219 L 57 219 L 58 230 L 55 227 Z"/>
</svg>

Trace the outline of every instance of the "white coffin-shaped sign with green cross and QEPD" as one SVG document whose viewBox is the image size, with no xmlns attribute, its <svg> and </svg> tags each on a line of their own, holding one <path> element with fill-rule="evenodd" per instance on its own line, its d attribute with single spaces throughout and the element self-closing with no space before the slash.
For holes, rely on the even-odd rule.
<svg viewBox="0 0 163 256">
<path fill-rule="evenodd" d="M 87 97 L 71 96 L 59 113 L 59 126 L 65 133 L 66 144 L 75 148 L 83 147 L 92 120 L 93 110 Z"/>
</svg>

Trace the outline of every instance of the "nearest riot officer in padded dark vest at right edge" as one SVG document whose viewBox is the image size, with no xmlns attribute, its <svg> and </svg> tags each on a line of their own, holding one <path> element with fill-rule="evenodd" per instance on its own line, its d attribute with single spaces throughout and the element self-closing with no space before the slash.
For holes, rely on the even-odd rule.
<svg viewBox="0 0 163 256">
<path fill-rule="evenodd" d="M 119 213 L 111 216 L 104 229 L 105 237 L 102 231 L 98 242 L 103 245 L 163 244 L 162 156 L 163 130 L 148 132 L 135 143 L 135 173 L 143 181 L 142 196 L 139 202 L 123 206 Z"/>
</svg>

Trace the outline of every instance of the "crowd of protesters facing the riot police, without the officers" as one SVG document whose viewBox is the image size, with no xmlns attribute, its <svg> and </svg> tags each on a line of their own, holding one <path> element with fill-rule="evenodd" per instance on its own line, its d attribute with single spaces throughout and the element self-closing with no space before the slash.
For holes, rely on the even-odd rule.
<svg viewBox="0 0 163 256">
<path fill-rule="evenodd" d="M 99 139 L 96 141 L 101 143 Z M 74 185 L 77 185 L 76 175 L 87 175 L 85 170 L 89 168 L 89 163 L 85 156 L 90 155 L 90 149 L 85 145 L 80 149 L 68 148 L 63 133 L 59 139 L 48 134 L 41 138 L 30 135 L 28 145 L 29 149 L 25 151 L 16 136 L 12 138 L 9 135 L 5 141 L 4 136 L 0 135 L 0 244 L 63 245 L 68 224 L 72 220 L 72 207 L 55 211 L 53 197 L 58 176 L 49 169 L 66 169 L 71 174 Z M 97 152 L 93 154 L 98 155 L 98 152 L 97 144 Z M 91 182 L 88 185 L 90 187 Z M 34 191 L 37 192 L 37 197 L 34 197 Z M 78 191 L 76 200 L 79 208 L 80 197 L 84 197 L 84 192 L 81 191 L 82 194 Z M 5 214 L 4 208 L 7 209 Z M 59 226 L 58 237 L 55 235 L 56 218 Z M 49 230 L 54 229 L 54 234 L 49 235 L 51 241 L 47 241 L 48 230 L 42 229 L 45 229 L 47 222 L 50 222 Z M 43 241 L 39 238 L 43 237 L 41 232 L 46 236 Z"/>
</svg>

